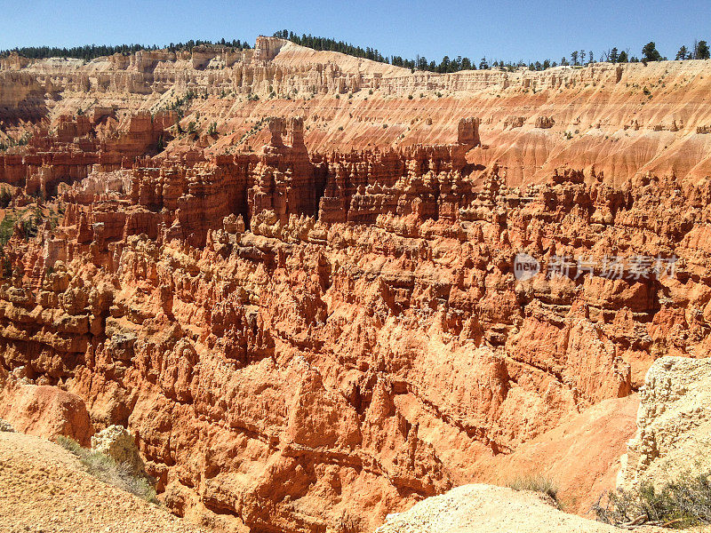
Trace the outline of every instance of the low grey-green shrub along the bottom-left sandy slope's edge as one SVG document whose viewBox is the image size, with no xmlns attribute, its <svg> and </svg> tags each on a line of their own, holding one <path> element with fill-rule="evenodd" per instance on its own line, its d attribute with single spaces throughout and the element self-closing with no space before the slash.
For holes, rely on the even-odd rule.
<svg viewBox="0 0 711 533">
<path fill-rule="evenodd" d="M 136 473 L 127 463 L 116 463 L 112 457 L 99 451 L 82 448 L 78 442 L 69 437 L 58 437 L 57 444 L 79 457 L 86 471 L 100 481 L 131 492 L 152 504 L 159 503 L 156 499 L 155 480 L 148 474 Z"/>
</svg>

